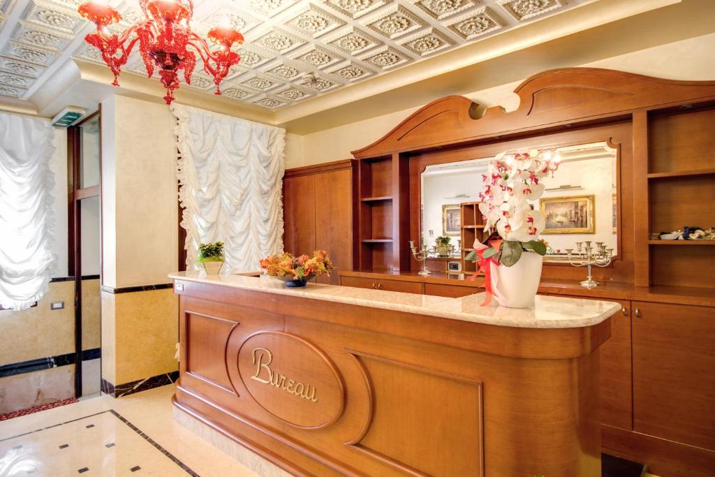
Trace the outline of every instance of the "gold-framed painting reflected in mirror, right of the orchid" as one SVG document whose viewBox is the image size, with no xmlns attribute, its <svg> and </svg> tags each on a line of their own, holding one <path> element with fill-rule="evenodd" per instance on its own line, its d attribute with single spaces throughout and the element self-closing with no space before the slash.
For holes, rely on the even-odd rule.
<svg viewBox="0 0 715 477">
<path fill-rule="evenodd" d="M 546 225 L 542 234 L 596 233 L 595 195 L 548 197 L 539 200 L 539 210 Z"/>
</svg>

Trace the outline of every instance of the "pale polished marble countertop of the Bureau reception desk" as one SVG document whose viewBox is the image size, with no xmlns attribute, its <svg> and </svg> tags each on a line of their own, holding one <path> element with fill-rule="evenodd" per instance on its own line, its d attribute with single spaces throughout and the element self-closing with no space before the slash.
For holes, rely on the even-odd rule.
<svg viewBox="0 0 715 477">
<path fill-rule="evenodd" d="M 317 283 L 308 283 L 304 288 L 286 288 L 284 282 L 265 275 L 176 272 L 169 274 L 169 278 L 515 328 L 581 328 L 597 325 L 621 309 L 618 303 L 608 301 L 543 295 L 536 295 L 530 308 L 506 308 L 495 300 L 490 305 L 481 306 L 483 292 L 448 298 Z"/>
</svg>

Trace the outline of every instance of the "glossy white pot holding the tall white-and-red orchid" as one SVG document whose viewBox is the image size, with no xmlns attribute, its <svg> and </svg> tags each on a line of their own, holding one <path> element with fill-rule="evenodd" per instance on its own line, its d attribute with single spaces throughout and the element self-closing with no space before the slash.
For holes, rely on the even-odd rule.
<svg viewBox="0 0 715 477">
<path fill-rule="evenodd" d="M 508 308 L 528 308 L 534 302 L 541 281 L 543 257 L 535 252 L 523 252 L 511 267 L 491 265 L 494 299 Z"/>
</svg>

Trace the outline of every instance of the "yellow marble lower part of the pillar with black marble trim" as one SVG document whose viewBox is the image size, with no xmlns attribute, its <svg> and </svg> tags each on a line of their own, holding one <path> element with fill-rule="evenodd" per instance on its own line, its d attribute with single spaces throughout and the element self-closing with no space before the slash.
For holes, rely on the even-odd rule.
<svg viewBox="0 0 715 477">
<path fill-rule="evenodd" d="M 179 300 L 171 284 L 102 287 L 102 392 L 119 398 L 174 383 Z"/>
</svg>

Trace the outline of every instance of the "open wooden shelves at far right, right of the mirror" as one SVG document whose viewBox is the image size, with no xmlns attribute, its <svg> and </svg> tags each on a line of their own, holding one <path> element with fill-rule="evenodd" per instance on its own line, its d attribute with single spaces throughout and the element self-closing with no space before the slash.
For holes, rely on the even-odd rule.
<svg viewBox="0 0 715 477">
<path fill-rule="evenodd" d="M 715 109 L 651 111 L 647 117 L 648 231 L 715 225 Z M 711 286 L 715 240 L 647 240 L 649 285 Z"/>
</svg>

